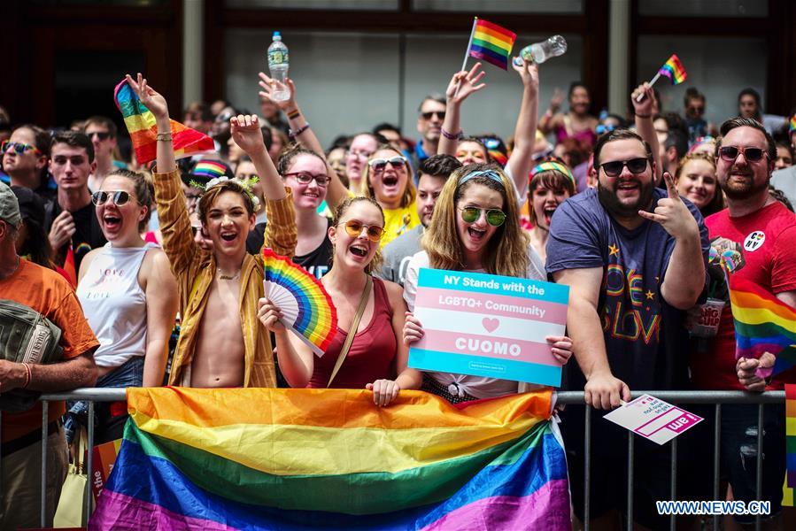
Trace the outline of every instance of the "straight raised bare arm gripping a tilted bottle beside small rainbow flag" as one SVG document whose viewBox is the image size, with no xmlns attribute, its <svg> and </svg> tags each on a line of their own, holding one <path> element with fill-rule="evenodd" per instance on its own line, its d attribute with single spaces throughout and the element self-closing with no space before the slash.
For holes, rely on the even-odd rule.
<svg viewBox="0 0 796 531">
<path fill-rule="evenodd" d="M 514 188 L 519 197 L 528 196 L 528 174 L 533 165 L 533 146 L 537 136 L 537 115 L 539 113 L 539 67 L 527 60 L 522 66 L 512 67 L 522 79 L 522 103 L 517 125 L 514 127 L 514 150 L 508 158 Z"/>
</svg>

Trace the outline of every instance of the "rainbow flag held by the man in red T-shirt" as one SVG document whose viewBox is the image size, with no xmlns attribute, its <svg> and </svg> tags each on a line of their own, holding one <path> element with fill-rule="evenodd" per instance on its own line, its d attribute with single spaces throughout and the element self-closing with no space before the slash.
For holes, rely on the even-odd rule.
<svg viewBox="0 0 796 531">
<path fill-rule="evenodd" d="M 760 375 L 769 377 L 796 365 L 796 309 L 757 284 L 728 275 L 735 321 L 736 358 L 760 358 L 770 352 L 777 361 Z"/>
</svg>

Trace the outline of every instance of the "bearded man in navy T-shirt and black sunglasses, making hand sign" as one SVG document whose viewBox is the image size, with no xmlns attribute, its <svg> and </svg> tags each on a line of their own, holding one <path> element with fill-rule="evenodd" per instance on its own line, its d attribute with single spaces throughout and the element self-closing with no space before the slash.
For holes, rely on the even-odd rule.
<svg viewBox="0 0 796 531">
<path fill-rule="evenodd" d="M 666 189 L 655 188 L 652 150 L 636 133 L 602 135 L 594 168 L 598 188 L 570 197 L 553 214 L 546 268 L 570 289 L 567 328 L 577 365 L 567 367 L 568 389 L 583 389 L 586 404 L 610 410 L 630 400 L 630 389 L 687 389 L 682 322 L 706 286 L 707 229 L 669 173 Z M 583 407 L 564 415 L 573 504 L 583 520 Z M 591 440 L 599 442 L 591 446 L 591 477 L 608 482 L 591 486 L 597 528 L 611 527 L 615 511 L 627 509 L 628 435 L 601 417 L 591 417 Z M 636 438 L 633 514 L 652 529 L 668 524 L 654 504 L 669 499 L 670 453 L 661 448 Z"/>
</svg>

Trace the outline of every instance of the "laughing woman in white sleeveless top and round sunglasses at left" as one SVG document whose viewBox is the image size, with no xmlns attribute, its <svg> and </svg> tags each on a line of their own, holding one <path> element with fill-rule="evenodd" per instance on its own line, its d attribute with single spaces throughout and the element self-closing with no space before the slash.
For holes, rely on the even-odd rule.
<svg viewBox="0 0 796 531">
<path fill-rule="evenodd" d="M 177 284 L 166 253 L 144 242 L 151 184 L 143 173 L 117 169 L 91 196 L 108 242 L 82 260 L 77 296 L 100 346 L 94 353 L 97 387 L 162 384 L 177 312 Z M 127 415 L 117 404 L 97 404 L 97 443 L 118 439 Z M 77 403 L 70 412 L 87 411 Z"/>
</svg>

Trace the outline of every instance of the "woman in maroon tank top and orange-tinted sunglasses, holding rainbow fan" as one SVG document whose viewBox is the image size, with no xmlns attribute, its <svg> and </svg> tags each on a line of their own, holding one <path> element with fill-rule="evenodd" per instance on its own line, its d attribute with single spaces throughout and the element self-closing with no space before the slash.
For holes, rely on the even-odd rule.
<svg viewBox="0 0 796 531">
<path fill-rule="evenodd" d="M 421 374 L 406 367 L 409 353 L 401 342 L 403 290 L 371 276 L 381 265 L 383 235 L 384 214 L 374 199 L 349 197 L 337 207 L 328 228 L 334 262 L 321 280 L 337 310 L 337 333 L 321 358 L 288 333 L 277 306 L 260 299 L 258 317 L 276 337 L 279 366 L 291 387 L 371 389 L 377 405 L 390 404 L 401 389 L 420 388 Z M 363 301 L 361 319 L 352 330 Z M 350 334 L 354 336 L 346 351 Z"/>
</svg>

